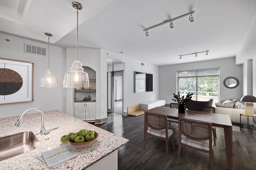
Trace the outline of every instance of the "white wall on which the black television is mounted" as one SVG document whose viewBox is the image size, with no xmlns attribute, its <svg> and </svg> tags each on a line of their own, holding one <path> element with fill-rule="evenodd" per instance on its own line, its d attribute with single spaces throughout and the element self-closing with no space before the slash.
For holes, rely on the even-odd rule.
<svg viewBox="0 0 256 170">
<path fill-rule="evenodd" d="M 140 60 L 125 57 L 124 55 L 116 54 L 107 50 L 102 50 L 108 58 L 118 59 L 125 63 L 124 71 L 124 112 L 127 112 L 127 107 L 137 105 L 143 102 L 159 99 L 159 66 L 148 64 L 141 65 Z M 107 53 L 109 53 L 107 55 Z M 111 66 L 109 67 L 111 68 Z M 114 67 L 112 67 L 115 69 Z M 109 70 L 108 70 L 109 71 Z M 115 69 L 115 71 L 117 71 Z M 144 93 L 134 93 L 134 71 L 153 74 L 153 91 Z"/>
</svg>

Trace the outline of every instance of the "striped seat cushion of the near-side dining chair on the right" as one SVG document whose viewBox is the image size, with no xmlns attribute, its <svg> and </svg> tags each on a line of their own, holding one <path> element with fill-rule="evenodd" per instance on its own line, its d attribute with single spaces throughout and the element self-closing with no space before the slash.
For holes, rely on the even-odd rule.
<svg viewBox="0 0 256 170">
<path fill-rule="evenodd" d="M 209 150 L 209 140 L 195 141 L 195 140 L 187 138 L 184 135 L 181 135 L 181 143 L 192 146 L 192 147 L 196 147 L 198 149 Z M 212 142 L 212 144 L 213 144 L 213 142 Z"/>
</svg>

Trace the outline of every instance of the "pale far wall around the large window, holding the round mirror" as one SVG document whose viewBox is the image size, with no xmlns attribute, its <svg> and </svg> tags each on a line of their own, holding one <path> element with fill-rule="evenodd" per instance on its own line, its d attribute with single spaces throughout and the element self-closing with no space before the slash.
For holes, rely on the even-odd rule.
<svg viewBox="0 0 256 170">
<path fill-rule="evenodd" d="M 159 69 L 159 96 L 165 99 L 166 103 L 173 102 L 173 93 L 177 93 L 177 70 L 188 70 L 197 68 L 220 67 L 219 76 L 219 98 L 240 99 L 242 97 L 242 65 L 235 64 L 235 57 L 225 59 L 215 59 L 202 62 L 191 62 L 177 65 L 161 66 Z M 223 85 L 226 77 L 236 77 L 239 79 L 237 88 L 229 89 Z"/>
</svg>

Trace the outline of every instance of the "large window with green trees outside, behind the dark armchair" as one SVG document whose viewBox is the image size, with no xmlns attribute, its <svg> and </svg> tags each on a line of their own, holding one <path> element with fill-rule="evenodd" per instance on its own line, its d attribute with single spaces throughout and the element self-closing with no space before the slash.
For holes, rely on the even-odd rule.
<svg viewBox="0 0 256 170">
<path fill-rule="evenodd" d="M 181 95 L 193 93 L 192 100 L 218 101 L 219 68 L 177 71 L 177 80 Z"/>
</svg>

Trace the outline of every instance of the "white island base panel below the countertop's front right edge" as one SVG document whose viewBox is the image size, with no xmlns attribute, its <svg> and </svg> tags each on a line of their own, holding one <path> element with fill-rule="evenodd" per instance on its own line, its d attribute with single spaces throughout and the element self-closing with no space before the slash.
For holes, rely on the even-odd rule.
<svg viewBox="0 0 256 170">
<path fill-rule="evenodd" d="M 117 150 L 97 161 L 95 164 L 87 168 L 87 170 L 117 170 Z"/>
</svg>

